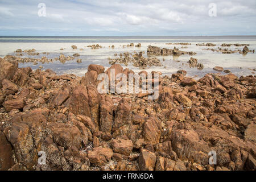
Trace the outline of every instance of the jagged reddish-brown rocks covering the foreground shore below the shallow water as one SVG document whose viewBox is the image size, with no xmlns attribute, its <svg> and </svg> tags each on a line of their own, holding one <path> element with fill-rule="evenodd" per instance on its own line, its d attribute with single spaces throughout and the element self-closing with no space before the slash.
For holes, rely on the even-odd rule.
<svg viewBox="0 0 256 182">
<path fill-rule="evenodd" d="M 0 170 L 256 169 L 255 76 L 208 73 L 194 80 L 178 71 L 160 76 L 159 97 L 148 100 L 148 93 L 98 93 L 97 76 L 110 69 L 133 72 L 91 64 L 84 77 L 59 76 L 0 58 Z M 46 164 L 38 164 L 39 151 Z"/>
</svg>

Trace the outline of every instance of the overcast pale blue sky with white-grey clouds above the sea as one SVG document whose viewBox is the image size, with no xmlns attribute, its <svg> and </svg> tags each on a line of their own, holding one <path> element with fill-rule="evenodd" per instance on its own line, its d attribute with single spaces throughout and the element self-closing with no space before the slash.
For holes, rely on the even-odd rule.
<svg viewBox="0 0 256 182">
<path fill-rule="evenodd" d="M 0 0 L 0 35 L 256 35 L 256 1 Z"/>
</svg>

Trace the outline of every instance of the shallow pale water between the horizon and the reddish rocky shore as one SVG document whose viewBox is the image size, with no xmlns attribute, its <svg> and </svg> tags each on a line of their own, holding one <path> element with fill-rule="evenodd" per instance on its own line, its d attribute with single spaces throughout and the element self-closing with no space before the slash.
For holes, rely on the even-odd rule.
<svg viewBox="0 0 256 182">
<path fill-rule="evenodd" d="M 178 42 L 189 42 L 192 45 L 188 45 L 188 48 L 181 48 L 181 45 L 167 45 L 166 43 L 178 43 Z M 100 44 L 103 48 L 100 49 L 91 49 L 86 46 L 92 44 Z M 142 47 L 125 47 L 123 45 L 134 43 L 142 44 Z M 214 43 L 215 47 L 206 47 L 206 46 L 196 46 L 196 43 Z M 40 65 L 43 66 L 43 69 L 52 69 L 57 74 L 63 73 L 73 73 L 77 76 L 84 76 L 84 73 L 87 71 L 89 64 L 101 64 L 105 68 L 110 67 L 108 57 L 114 58 L 114 54 L 123 53 L 123 52 L 133 52 L 133 51 L 145 51 L 144 56 L 147 52 L 147 46 L 158 46 L 166 48 L 174 48 L 176 46 L 182 51 L 194 51 L 197 52 L 196 55 L 192 56 L 198 59 L 199 63 L 204 65 L 204 69 L 199 71 L 197 68 L 189 68 L 187 61 L 191 56 L 181 55 L 179 57 L 174 56 L 156 56 L 161 61 L 162 67 L 151 67 L 145 69 L 147 72 L 151 71 L 160 71 L 163 75 L 171 75 L 172 73 L 177 72 L 179 69 L 185 69 L 187 75 L 191 77 L 197 76 L 197 78 L 203 77 L 206 73 L 216 72 L 213 70 L 213 67 L 220 66 L 224 69 L 229 69 L 237 76 L 246 76 L 246 75 L 255 75 L 248 68 L 256 68 L 256 54 L 247 53 L 243 56 L 240 53 L 233 54 L 222 54 L 220 52 L 212 52 L 203 49 L 214 48 L 217 49 L 222 43 L 240 43 L 240 44 L 250 44 L 249 49 L 256 49 L 256 36 L 179 36 L 179 37 L 3 37 L 0 36 L 0 57 L 4 57 L 7 54 L 15 55 L 14 51 L 18 48 L 32 49 L 35 48 L 36 52 L 39 52 L 39 56 L 28 56 L 26 53 L 23 53 L 23 57 L 34 57 L 40 58 L 46 56 L 48 59 L 54 59 L 59 57 L 61 53 L 65 56 L 73 55 L 74 53 L 79 53 L 80 57 L 76 57 L 75 60 L 66 61 L 65 64 L 60 63 L 59 61 L 53 61 L 53 63 L 48 64 L 37 64 L 33 65 L 32 63 L 19 64 L 20 68 L 31 67 L 32 69 L 39 68 Z M 77 49 L 72 49 L 71 46 L 76 45 Z M 114 45 L 115 48 L 109 48 L 109 46 Z M 185 47 L 185 46 L 184 46 Z M 60 51 L 60 48 L 64 48 L 63 51 Z M 84 49 L 80 51 L 80 48 Z M 228 49 L 243 49 L 243 47 L 222 47 Z M 48 52 L 49 55 L 44 55 L 42 52 Z M 82 59 L 82 63 L 78 64 L 77 59 Z M 165 59 L 165 61 L 163 61 Z M 125 65 L 122 65 L 123 68 L 126 68 Z M 164 68 L 166 67 L 166 68 Z M 133 71 L 140 72 L 142 71 L 139 68 L 133 67 L 133 65 L 128 65 L 127 68 L 133 69 Z M 222 74 L 225 74 L 222 72 Z"/>
</svg>

